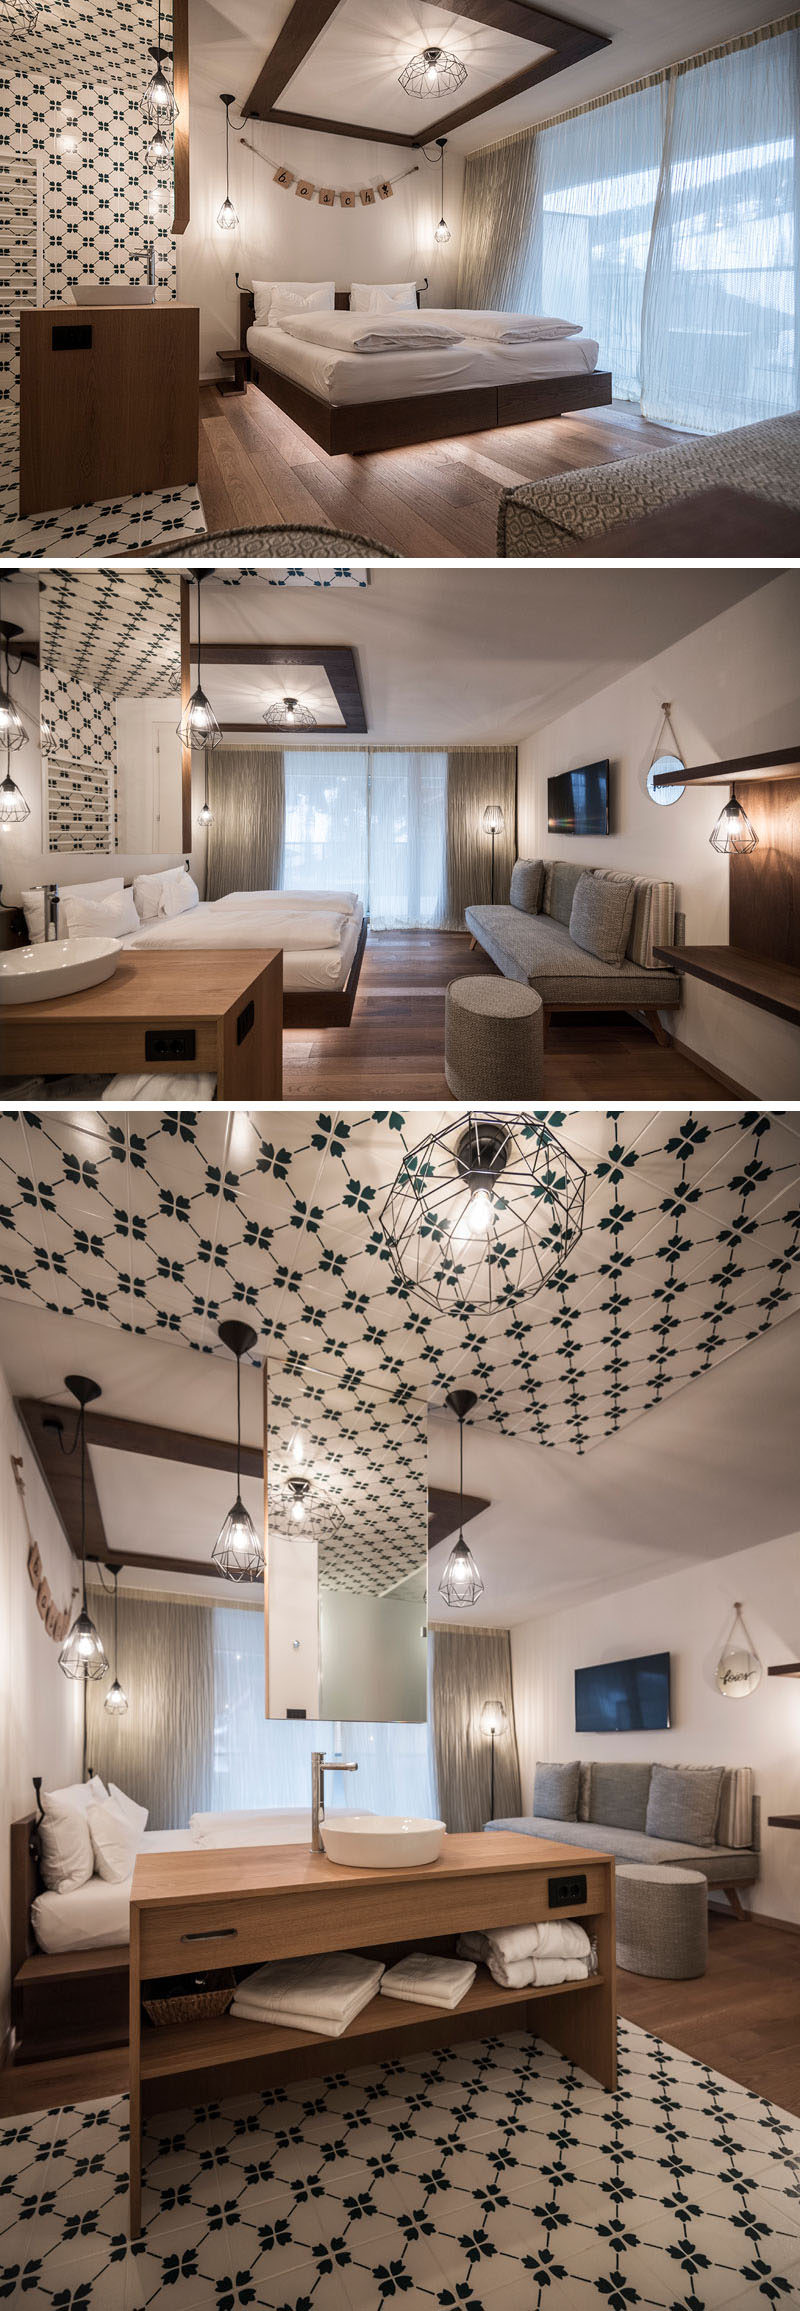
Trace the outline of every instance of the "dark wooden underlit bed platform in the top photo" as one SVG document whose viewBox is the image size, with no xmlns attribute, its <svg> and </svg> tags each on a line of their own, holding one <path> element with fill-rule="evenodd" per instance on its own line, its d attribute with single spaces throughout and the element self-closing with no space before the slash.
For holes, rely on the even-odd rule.
<svg viewBox="0 0 800 2311">
<path fill-rule="evenodd" d="M 335 293 L 335 307 L 347 296 Z M 254 296 L 238 291 L 240 347 L 254 324 Z M 414 441 L 444 441 L 451 434 L 492 432 L 497 425 L 529 425 L 536 418 L 562 418 L 569 409 L 599 409 L 610 402 L 610 370 L 576 377 L 532 377 L 527 384 L 467 386 L 455 393 L 412 393 L 400 400 L 335 407 L 319 393 L 308 393 L 291 377 L 271 370 L 250 354 L 250 379 L 328 451 L 328 458 L 358 458 L 377 448 L 409 448 Z"/>
</svg>

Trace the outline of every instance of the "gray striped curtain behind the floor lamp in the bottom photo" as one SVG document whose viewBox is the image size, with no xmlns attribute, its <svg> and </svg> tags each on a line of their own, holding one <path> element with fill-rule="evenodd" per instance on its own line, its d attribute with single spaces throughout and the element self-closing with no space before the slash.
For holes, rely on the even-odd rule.
<svg viewBox="0 0 800 2311">
<path fill-rule="evenodd" d="M 509 1629 L 430 1629 L 430 1715 L 437 1805 L 449 1830 L 483 1830 L 490 1819 L 490 1742 L 481 1733 L 486 1701 L 502 1701 L 506 1733 L 495 1740 L 495 1819 L 523 1812 L 513 1724 Z"/>
</svg>

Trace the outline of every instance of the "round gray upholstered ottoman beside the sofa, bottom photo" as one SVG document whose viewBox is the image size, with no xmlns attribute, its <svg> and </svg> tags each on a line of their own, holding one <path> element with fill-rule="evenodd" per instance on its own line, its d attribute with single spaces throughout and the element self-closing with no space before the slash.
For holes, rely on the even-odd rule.
<svg viewBox="0 0 800 2311">
<path fill-rule="evenodd" d="M 701 1870 L 617 1863 L 617 1967 L 687 1983 L 705 1974 L 708 1879 Z"/>
</svg>

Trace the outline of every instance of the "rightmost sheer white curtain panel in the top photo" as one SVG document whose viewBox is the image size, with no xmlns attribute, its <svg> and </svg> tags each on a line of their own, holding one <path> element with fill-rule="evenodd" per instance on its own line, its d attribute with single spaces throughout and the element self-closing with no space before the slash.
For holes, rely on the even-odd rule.
<svg viewBox="0 0 800 2311">
<path fill-rule="evenodd" d="M 643 411 L 724 432 L 800 402 L 800 32 L 682 72 L 645 291 Z"/>
</svg>

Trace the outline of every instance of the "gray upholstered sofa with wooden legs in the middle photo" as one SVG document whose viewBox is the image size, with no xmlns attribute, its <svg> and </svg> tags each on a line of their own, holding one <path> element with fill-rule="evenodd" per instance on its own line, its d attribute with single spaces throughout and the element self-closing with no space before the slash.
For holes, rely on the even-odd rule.
<svg viewBox="0 0 800 2311">
<path fill-rule="evenodd" d="M 576 945 L 571 936 L 578 883 L 590 876 L 615 897 L 634 894 L 627 945 L 620 961 Z M 532 906 L 529 901 L 536 899 Z M 506 980 L 523 980 L 550 1010 L 643 1010 L 657 1040 L 666 1040 L 661 1010 L 680 1003 L 680 975 L 654 964 L 654 945 L 668 945 L 675 924 L 675 885 L 652 876 L 620 876 L 606 867 L 571 860 L 518 860 L 509 906 L 467 906 L 472 941 L 490 954 Z"/>
</svg>

